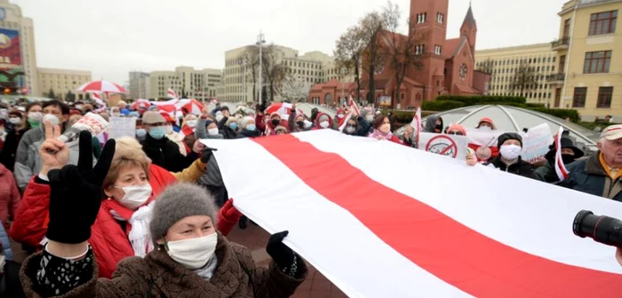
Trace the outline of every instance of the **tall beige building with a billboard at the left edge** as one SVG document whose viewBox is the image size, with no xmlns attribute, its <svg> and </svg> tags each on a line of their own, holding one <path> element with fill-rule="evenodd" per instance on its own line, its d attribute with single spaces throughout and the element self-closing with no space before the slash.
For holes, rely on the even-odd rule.
<svg viewBox="0 0 622 298">
<path fill-rule="evenodd" d="M 22 68 L 25 76 L 23 79 L 16 80 L 16 84 L 20 88 L 30 89 L 29 94 L 38 96 L 41 93 L 36 75 L 35 31 L 33 28 L 33 21 L 21 15 L 20 6 L 10 4 L 8 0 L 0 0 L 0 30 L 3 39 L 15 31 L 19 32 L 19 57 L 21 60 L 21 63 L 18 65 L 14 61 L 16 58 L 15 55 L 13 55 L 13 57 L 4 56 L 2 57 L 2 63 L 0 63 L 0 70 L 8 71 L 16 67 Z M 0 44 L 0 46 L 3 45 L 10 47 L 11 43 L 4 42 Z"/>
</svg>

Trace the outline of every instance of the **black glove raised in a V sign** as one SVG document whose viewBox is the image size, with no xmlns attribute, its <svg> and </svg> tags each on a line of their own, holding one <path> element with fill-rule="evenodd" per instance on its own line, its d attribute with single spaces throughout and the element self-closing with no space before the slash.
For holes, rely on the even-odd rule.
<svg viewBox="0 0 622 298">
<path fill-rule="evenodd" d="M 92 167 L 92 137 L 80 133 L 80 155 L 77 166 L 52 169 L 50 179 L 50 223 L 45 236 L 60 243 L 76 244 L 91 238 L 101 200 L 102 184 L 115 155 L 114 139 L 101 151 L 100 161 Z"/>
</svg>

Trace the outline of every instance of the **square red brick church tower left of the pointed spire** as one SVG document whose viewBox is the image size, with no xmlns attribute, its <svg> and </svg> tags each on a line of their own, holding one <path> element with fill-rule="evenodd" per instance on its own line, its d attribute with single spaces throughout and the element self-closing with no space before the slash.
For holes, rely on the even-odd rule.
<svg viewBox="0 0 622 298">
<path fill-rule="evenodd" d="M 437 86 L 444 85 L 445 56 L 451 55 L 444 52 L 448 8 L 449 0 L 411 0 L 410 18 L 414 30 L 426 37 L 416 49 L 423 56 L 423 66 L 419 70 L 413 67 L 408 76 L 424 84 L 423 100 L 443 93 Z"/>
</svg>

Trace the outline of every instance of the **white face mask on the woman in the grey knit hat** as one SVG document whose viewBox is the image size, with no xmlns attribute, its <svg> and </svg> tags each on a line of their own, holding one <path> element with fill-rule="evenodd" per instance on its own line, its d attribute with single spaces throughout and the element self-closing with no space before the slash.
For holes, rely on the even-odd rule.
<svg viewBox="0 0 622 298">
<path fill-rule="evenodd" d="M 205 266 L 214 256 L 216 244 L 218 234 L 213 232 L 199 238 L 166 242 L 166 247 L 171 259 L 189 270 L 196 270 Z"/>
</svg>

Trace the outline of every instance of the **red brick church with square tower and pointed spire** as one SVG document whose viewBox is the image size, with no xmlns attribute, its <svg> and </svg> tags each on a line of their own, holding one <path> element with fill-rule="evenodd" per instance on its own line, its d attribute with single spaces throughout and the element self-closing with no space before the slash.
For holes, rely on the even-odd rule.
<svg viewBox="0 0 622 298">
<path fill-rule="evenodd" d="M 490 75 L 474 69 L 477 25 L 473 11 L 469 6 L 459 37 L 446 39 L 448 6 L 449 0 L 411 0 L 410 15 L 416 22 L 415 32 L 427 32 L 423 48 L 418 49 L 422 50 L 423 66 L 408 70 L 401 89 L 395 92 L 397 96 L 392 100 L 394 108 L 420 106 L 422 100 L 432 100 L 440 95 L 468 96 L 488 92 Z M 374 75 L 374 81 L 375 104 L 380 105 L 387 102 L 396 88 L 395 74 L 389 67 L 384 67 Z M 362 101 L 369 93 L 368 82 L 369 75 L 363 72 Z M 309 92 L 309 99 L 317 104 L 332 104 L 344 102 L 348 95 L 355 97 L 355 83 L 344 83 L 344 98 L 341 98 L 341 88 L 342 83 L 336 80 L 316 84 Z"/>
</svg>

